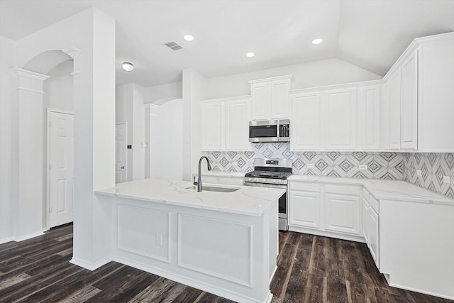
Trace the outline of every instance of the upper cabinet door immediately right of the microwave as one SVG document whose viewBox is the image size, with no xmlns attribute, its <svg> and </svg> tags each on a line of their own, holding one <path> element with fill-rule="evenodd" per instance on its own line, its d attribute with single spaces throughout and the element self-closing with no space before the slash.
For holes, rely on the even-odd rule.
<svg viewBox="0 0 454 303">
<path fill-rule="evenodd" d="M 321 150 L 319 92 L 292 95 L 292 150 Z"/>
</svg>

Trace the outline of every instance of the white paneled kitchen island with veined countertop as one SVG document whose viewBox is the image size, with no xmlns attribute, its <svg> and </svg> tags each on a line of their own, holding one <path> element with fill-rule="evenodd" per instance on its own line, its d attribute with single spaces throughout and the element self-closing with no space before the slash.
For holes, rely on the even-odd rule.
<svg viewBox="0 0 454 303">
<path fill-rule="evenodd" d="M 209 184 L 204 184 L 209 185 Z M 95 192 L 114 260 L 236 302 L 270 302 L 284 189 L 147 179 Z M 235 190 L 236 189 L 236 190 Z M 214 188 L 213 190 L 216 190 Z"/>
</svg>

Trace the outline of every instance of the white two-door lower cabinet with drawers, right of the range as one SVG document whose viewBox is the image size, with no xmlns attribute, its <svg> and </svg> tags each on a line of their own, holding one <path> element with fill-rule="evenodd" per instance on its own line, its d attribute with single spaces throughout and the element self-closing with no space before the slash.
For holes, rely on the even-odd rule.
<svg viewBox="0 0 454 303">
<path fill-rule="evenodd" d="M 289 229 L 362 241 L 360 187 L 289 181 Z"/>
</svg>

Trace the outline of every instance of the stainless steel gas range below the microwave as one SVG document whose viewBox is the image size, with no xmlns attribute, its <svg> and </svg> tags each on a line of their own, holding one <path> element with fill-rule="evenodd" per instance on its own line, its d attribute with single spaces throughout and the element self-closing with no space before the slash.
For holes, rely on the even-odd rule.
<svg viewBox="0 0 454 303">
<path fill-rule="evenodd" d="M 244 177 L 246 186 L 278 187 L 287 189 L 287 177 L 292 175 L 292 160 L 263 159 L 254 160 L 253 172 Z M 287 192 L 279 198 L 279 230 L 287 231 Z"/>
</svg>

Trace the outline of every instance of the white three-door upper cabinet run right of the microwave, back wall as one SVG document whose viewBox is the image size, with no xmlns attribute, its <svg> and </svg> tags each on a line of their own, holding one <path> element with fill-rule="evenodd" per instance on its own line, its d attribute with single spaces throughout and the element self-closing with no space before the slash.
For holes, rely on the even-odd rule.
<svg viewBox="0 0 454 303">
<path fill-rule="evenodd" d="M 380 150 L 381 84 L 377 80 L 290 92 L 290 148 Z"/>
</svg>

